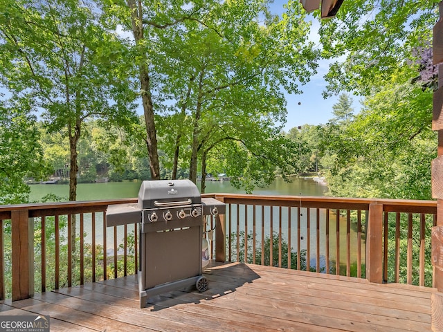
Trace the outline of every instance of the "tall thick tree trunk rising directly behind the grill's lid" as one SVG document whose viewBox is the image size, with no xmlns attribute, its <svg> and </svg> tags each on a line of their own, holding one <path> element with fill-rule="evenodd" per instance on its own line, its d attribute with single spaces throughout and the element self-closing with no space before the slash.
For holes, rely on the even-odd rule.
<svg viewBox="0 0 443 332">
<path fill-rule="evenodd" d="M 127 6 L 131 8 L 131 21 L 132 21 L 132 33 L 134 34 L 134 39 L 136 45 L 140 44 L 145 37 L 143 36 L 143 14 L 141 3 L 138 2 L 138 6 L 135 0 L 127 0 Z M 144 55 L 146 57 L 146 55 Z M 141 99 L 143 102 L 143 113 L 145 116 L 146 125 L 146 146 L 147 155 L 150 158 L 150 170 L 151 178 L 153 180 L 160 179 L 160 164 L 159 164 L 159 153 L 157 148 L 157 136 L 154 120 L 154 106 L 152 104 L 152 93 L 150 86 L 150 74 L 147 68 L 147 64 L 141 60 L 138 65 L 140 75 L 140 88 L 141 88 Z"/>
</svg>

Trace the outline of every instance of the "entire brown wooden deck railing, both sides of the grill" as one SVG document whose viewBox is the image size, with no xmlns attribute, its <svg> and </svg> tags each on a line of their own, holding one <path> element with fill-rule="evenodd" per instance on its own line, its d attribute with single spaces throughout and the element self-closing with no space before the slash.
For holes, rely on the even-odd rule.
<svg viewBox="0 0 443 332">
<path fill-rule="evenodd" d="M 204 196 L 227 205 L 225 216 L 205 219 L 217 261 L 433 286 L 435 201 Z M 0 206 L 0 298 L 137 273 L 138 225 L 104 222 L 108 205 L 134 202 Z"/>
</svg>

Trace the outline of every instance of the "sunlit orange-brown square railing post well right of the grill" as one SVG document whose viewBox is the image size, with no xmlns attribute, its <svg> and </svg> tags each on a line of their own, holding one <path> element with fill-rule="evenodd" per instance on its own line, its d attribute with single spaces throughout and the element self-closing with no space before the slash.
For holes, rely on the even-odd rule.
<svg viewBox="0 0 443 332">
<path fill-rule="evenodd" d="M 370 203 L 366 228 L 366 279 L 383 283 L 383 204 Z"/>
</svg>

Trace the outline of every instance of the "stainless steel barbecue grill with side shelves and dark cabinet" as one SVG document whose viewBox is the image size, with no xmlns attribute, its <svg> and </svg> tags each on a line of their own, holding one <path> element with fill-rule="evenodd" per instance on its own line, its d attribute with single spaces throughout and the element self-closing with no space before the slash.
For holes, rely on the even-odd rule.
<svg viewBox="0 0 443 332">
<path fill-rule="evenodd" d="M 147 297 L 192 284 L 206 291 L 208 280 L 201 263 L 203 216 L 224 211 L 224 203 L 201 199 L 190 180 L 143 181 L 138 203 L 109 205 L 108 227 L 139 223 L 141 308 Z"/>
</svg>

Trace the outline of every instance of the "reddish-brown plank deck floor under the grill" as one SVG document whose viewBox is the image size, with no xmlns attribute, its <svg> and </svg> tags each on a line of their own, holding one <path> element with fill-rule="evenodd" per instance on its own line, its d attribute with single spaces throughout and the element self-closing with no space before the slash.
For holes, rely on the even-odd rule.
<svg viewBox="0 0 443 332">
<path fill-rule="evenodd" d="M 0 304 L 0 315 L 51 315 L 51 331 L 431 331 L 434 289 L 225 264 L 209 289 L 173 291 L 139 308 L 136 277 Z"/>
</svg>

